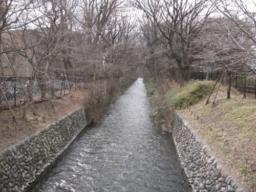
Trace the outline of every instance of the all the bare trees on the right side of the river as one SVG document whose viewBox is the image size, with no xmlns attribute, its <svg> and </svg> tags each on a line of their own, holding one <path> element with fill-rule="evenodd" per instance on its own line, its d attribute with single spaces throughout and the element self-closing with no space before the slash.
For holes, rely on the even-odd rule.
<svg viewBox="0 0 256 192">
<path fill-rule="evenodd" d="M 195 69 L 224 70 L 230 86 L 238 75 L 255 78 L 255 2 L 133 0 L 132 4 L 142 15 L 140 42 L 145 65 L 155 77 L 176 78 L 181 86 Z"/>
</svg>

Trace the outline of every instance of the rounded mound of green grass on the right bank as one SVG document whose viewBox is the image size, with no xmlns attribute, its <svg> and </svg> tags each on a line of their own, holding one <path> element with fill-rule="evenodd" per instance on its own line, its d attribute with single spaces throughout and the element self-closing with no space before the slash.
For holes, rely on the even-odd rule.
<svg viewBox="0 0 256 192">
<path fill-rule="evenodd" d="M 213 81 L 189 81 L 182 88 L 167 92 L 166 102 L 176 109 L 184 109 L 208 95 L 213 87 Z"/>
</svg>

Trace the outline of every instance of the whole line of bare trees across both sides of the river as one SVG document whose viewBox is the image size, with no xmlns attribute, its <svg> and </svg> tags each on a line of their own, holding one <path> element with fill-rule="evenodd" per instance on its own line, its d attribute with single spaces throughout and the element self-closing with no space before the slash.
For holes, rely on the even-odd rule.
<svg viewBox="0 0 256 192">
<path fill-rule="evenodd" d="M 243 0 L 0 0 L 0 76 L 8 69 L 31 77 L 27 93 L 37 79 L 46 94 L 56 71 L 66 80 L 95 73 L 115 81 L 140 65 L 181 86 L 191 71 L 223 70 L 231 85 L 238 75 L 256 76 L 256 6 L 249 6 Z"/>
</svg>

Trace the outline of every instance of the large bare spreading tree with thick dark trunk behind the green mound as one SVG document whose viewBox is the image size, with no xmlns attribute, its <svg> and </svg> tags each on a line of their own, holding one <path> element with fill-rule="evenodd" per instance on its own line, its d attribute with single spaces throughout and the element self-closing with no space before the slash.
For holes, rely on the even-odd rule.
<svg viewBox="0 0 256 192">
<path fill-rule="evenodd" d="M 201 60 L 201 45 L 195 43 L 205 20 L 212 12 L 207 1 L 133 1 L 133 5 L 156 22 L 168 41 L 169 56 L 177 61 L 181 86 L 190 66 Z"/>
</svg>

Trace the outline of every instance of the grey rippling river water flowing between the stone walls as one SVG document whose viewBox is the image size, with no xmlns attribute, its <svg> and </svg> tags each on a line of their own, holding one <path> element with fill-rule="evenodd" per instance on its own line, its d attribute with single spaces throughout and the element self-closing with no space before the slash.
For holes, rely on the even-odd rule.
<svg viewBox="0 0 256 192">
<path fill-rule="evenodd" d="M 142 79 L 84 129 L 29 191 L 191 191 L 171 134 L 150 120 Z"/>
</svg>

